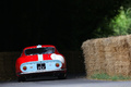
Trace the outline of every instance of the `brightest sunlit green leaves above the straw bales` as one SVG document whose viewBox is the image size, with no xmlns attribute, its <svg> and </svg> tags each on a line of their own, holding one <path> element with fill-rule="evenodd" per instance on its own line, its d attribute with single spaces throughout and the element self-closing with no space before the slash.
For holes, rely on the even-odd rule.
<svg viewBox="0 0 131 87">
<path fill-rule="evenodd" d="M 131 32 L 131 16 L 129 12 L 130 8 L 124 11 L 121 8 L 120 13 L 111 20 L 109 27 L 114 28 L 114 35 L 128 35 Z"/>
</svg>

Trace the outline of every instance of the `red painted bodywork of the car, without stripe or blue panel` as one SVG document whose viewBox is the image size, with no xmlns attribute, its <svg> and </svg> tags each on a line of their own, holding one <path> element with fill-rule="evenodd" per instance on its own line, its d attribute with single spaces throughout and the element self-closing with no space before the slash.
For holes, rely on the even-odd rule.
<svg viewBox="0 0 131 87">
<path fill-rule="evenodd" d="M 55 53 L 56 53 L 56 54 L 60 54 L 60 53 L 57 51 L 56 47 L 52 46 L 52 45 L 43 45 L 41 48 L 43 48 L 43 47 L 52 47 L 52 48 L 55 48 Z M 16 72 L 16 75 L 17 75 L 17 73 L 22 73 L 22 71 L 20 70 L 20 66 L 21 66 L 22 63 L 38 61 L 38 54 L 34 54 L 34 55 L 26 55 L 26 54 L 25 54 L 25 50 L 26 50 L 26 49 L 33 49 L 33 48 L 37 48 L 37 46 L 32 46 L 32 47 L 26 47 L 26 48 L 24 48 L 24 50 L 23 50 L 23 52 L 22 52 L 22 55 L 16 60 L 16 63 L 15 63 L 15 72 Z M 50 54 L 43 54 L 43 60 L 52 60 L 50 55 L 51 55 L 51 53 L 50 53 Z M 60 55 L 62 55 L 62 54 L 60 54 Z M 63 55 L 62 55 L 62 57 L 63 57 Z M 64 60 L 66 60 L 66 59 L 64 59 Z M 67 69 L 66 63 L 62 64 L 62 69 Z M 67 72 L 67 71 L 66 71 L 66 72 Z M 19 75 L 17 75 L 17 76 L 19 76 Z"/>
</svg>

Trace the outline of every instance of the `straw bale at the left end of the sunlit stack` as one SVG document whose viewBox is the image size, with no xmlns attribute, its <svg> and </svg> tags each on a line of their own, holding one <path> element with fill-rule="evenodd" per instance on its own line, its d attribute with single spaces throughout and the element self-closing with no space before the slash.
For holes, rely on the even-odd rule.
<svg viewBox="0 0 131 87">
<path fill-rule="evenodd" d="M 86 48 L 85 48 L 86 47 Z M 105 72 L 104 62 L 104 45 L 103 39 L 87 40 L 82 46 L 85 59 L 85 70 L 87 75 L 92 75 L 95 72 Z"/>
</svg>

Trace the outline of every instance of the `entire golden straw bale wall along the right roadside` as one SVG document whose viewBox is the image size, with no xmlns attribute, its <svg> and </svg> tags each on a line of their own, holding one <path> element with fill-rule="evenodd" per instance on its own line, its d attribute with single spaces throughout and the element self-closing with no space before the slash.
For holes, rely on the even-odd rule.
<svg viewBox="0 0 131 87">
<path fill-rule="evenodd" d="M 87 77 L 95 73 L 131 76 L 131 35 L 86 40 L 82 49 Z"/>
</svg>

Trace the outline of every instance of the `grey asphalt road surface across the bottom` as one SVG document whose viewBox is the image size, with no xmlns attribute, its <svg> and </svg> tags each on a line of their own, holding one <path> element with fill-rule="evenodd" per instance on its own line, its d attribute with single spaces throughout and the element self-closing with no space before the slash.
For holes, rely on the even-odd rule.
<svg viewBox="0 0 131 87">
<path fill-rule="evenodd" d="M 43 77 L 21 83 L 16 80 L 0 82 L 0 87 L 131 87 L 131 82 L 93 80 L 80 75 L 70 75 L 67 79 Z"/>
</svg>

